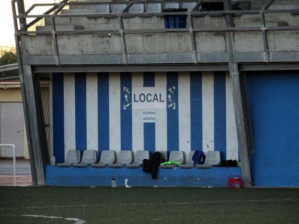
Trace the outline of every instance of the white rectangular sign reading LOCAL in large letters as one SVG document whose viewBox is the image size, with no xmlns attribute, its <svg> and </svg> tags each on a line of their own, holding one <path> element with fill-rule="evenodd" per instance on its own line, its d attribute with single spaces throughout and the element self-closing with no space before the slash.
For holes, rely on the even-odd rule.
<svg viewBox="0 0 299 224">
<path fill-rule="evenodd" d="M 166 89 L 163 87 L 134 87 L 132 109 L 166 109 Z"/>
</svg>

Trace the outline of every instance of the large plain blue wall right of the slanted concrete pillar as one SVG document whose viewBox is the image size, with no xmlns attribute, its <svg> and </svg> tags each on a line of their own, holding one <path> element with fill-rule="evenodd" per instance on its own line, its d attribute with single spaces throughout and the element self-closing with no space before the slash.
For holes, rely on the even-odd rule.
<svg viewBox="0 0 299 224">
<path fill-rule="evenodd" d="M 299 72 L 247 73 L 254 186 L 299 186 Z"/>
</svg>

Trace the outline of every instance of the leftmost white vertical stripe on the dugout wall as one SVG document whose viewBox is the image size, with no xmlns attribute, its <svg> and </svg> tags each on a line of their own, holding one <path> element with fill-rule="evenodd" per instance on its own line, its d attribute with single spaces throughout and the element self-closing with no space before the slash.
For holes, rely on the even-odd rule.
<svg viewBox="0 0 299 224">
<path fill-rule="evenodd" d="M 55 99 L 54 99 L 55 100 Z M 63 75 L 63 100 L 64 100 L 64 157 L 68 150 L 76 149 L 75 132 L 75 75 Z"/>
</svg>

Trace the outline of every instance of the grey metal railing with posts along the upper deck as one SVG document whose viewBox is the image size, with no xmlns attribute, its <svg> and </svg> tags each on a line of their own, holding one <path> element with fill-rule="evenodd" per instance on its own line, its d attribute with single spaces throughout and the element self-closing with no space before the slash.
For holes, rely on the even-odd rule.
<svg viewBox="0 0 299 224">
<path fill-rule="evenodd" d="M 140 57 L 144 57 L 144 61 L 141 60 L 141 58 L 139 58 L 138 60 L 136 59 L 136 57 L 138 56 L 135 53 L 128 53 L 127 52 L 127 47 L 128 44 L 127 42 L 129 42 L 129 40 L 126 39 L 125 35 L 126 34 L 143 34 L 143 33 L 172 33 L 173 35 L 177 35 L 177 33 L 189 33 L 189 40 L 185 40 L 185 41 L 190 41 L 190 46 L 191 46 L 191 52 L 190 54 L 184 54 L 184 56 L 186 56 L 185 60 L 181 60 L 179 59 L 179 57 L 181 57 L 181 55 L 179 54 L 180 52 L 177 52 L 177 56 L 175 57 L 173 56 L 172 53 L 172 57 L 171 59 L 169 59 L 169 55 L 167 54 L 167 52 L 164 52 L 162 55 L 160 55 L 163 58 L 168 58 L 169 59 L 169 63 L 207 63 L 207 62 L 213 62 L 213 63 L 221 63 L 221 62 L 228 62 L 228 61 L 232 61 L 232 60 L 238 60 L 238 55 L 235 55 L 235 53 L 239 54 L 239 56 L 241 55 L 241 58 L 243 61 L 247 61 L 247 62 L 254 62 L 255 58 L 256 61 L 258 62 L 269 62 L 269 61 L 278 61 L 280 60 L 279 58 L 281 58 L 283 56 L 283 54 L 281 55 L 277 55 L 277 58 L 275 58 L 275 54 L 272 54 L 271 52 L 269 52 L 269 41 L 268 41 L 268 34 L 267 32 L 269 31 L 298 31 L 299 30 L 299 26 L 297 25 L 285 25 L 285 26 L 274 26 L 272 25 L 268 25 L 266 20 L 265 20 L 265 16 L 269 15 L 269 14 L 277 14 L 277 13 L 285 13 L 287 15 L 299 15 L 299 9 L 276 9 L 276 10 L 269 10 L 268 7 L 270 5 L 265 5 L 263 7 L 263 9 L 261 10 L 222 10 L 222 11 L 196 11 L 197 8 L 201 5 L 201 3 L 203 2 L 202 0 L 200 1 L 194 1 L 194 0 L 137 0 L 137 1 L 114 1 L 114 2 L 69 2 L 69 0 L 63 0 L 61 3 L 57 4 L 57 3 L 48 3 L 48 4 L 33 4 L 27 11 L 23 12 L 23 13 L 19 13 L 18 15 L 16 14 L 16 9 L 15 9 L 15 2 L 18 0 L 12 0 L 12 9 L 13 9 L 13 17 L 14 17 L 14 23 L 15 23 L 15 34 L 17 36 L 17 38 L 19 38 L 20 36 L 23 35 L 51 35 L 52 36 L 52 45 L 53 45 L 53 49 L 54 49 L 54 60 L 55 62 L 53 63 L 53 60 L 50 60 L 51 64 L 65 64 L 67 63 L 67 61 L 69 60 L 63 60 L 62 59 L 62 55 L 63 52 L 61 52 L 61 50 L 59 49 L 59 46 L 57 44 L 57 35 L 70 35 L 70 34 L 81 34 L 82 38 L 84 38 L 84 35 L 88 35 L 88 34 L 108 34 L 108 35 L 118 35 L 120 37 L 120 43 L 121 43 L 121 55 L 116 54 L 117 56 L 121 56 L 121 58 L 117 58 L 116 60 L 114 60 L 114 62 L 107 62 L 107 60 L 104 60 L 105 64 L 147 64 L 147 63 L 159 63 L 157 62 L 158 59 L 152 59 L 152 60 L 146 60 L 146 57 L 144 57 L 144 54 L 140 54 Z M 170 2 L 196 2 L 196 5 L 194 6 L 194 8 L 192 8 L 192 10 L 190 11 L 182 11 L 182 12 L 142 12 L 142 13 L 130 13 L 129 8 L 132 7 L 132 5 L 134 4 L 149 4 L 149 3 L 170 3 Z M 273 1 L 272 1 L 273 2 Z M 270 3 L 270 2 L 269 2 Z M 124 10 L 121 13 L 82 13 L 82 14 L 60 14 L 61 10 L 65 7 L 68 6 L 74 6 L 74 5 L 107 5 L 107 4 L 127 4 L 127 6 L 124 8 Z M 30 15 L 29 13 L 34 9 L 34 7 L 37 6 L 53 6 L 51 9 L 47 10 L 45 13 L 43 14 L 39 14 L 39 15 Z M 126 18 L 126 16 L 143 16 L 147 15 L 146 17 L 150 18 L 151 16 L 156 16 L 156 17 L 163 17 L 163 16 L 169 16 L 169 15 L 186 15 L 187 16 L 187 27 L 186 28 L 125 28 L 124 27 L 124 17 Z M 206 15 L 209 15 L 211 17 L 214 16 L 218 16 L 218 17 L 222 17 L 225 19 L 225 26 L 224 27 L 219 27 L 219 25 L 217 25 L 216 23 L 211 24 L 209 27 L 196 27 L 194 28 L 194 18 L 196 17 L 204 17 Z M 242 15 L 258 15 L 260 18 L 260 25 L 254 25 L 254 26 L 249 26 L 246 25 L 245 22 L 243 23 L 244 25 L 241 26 L 234 26 L 234 17 L 238 16 L 242 16 Z M 56 19 L 58 18 L 75 18 L 75 17 L 83 17 L 83 18 L 93 18 L 93 19 L 97 19 L 97 18 L 117 18 L 118 21 L 118 28 L 115 29 L 98 29 L 98 28 L 94 28 L 94 29 L 81 29 L 81 30 L 68 30 L 68 29 L 64 29 L 64 30 L 57 30 L 56 29 Z M 31 22 L 26 22 L 26 19 L 28 18 L 35 18 L 34 20 L 32 20 Z M 29 31 L 29 28 L 38 24 L 38 22 L 41 19 L 48 19 L 50 21 L 50 25 L 51 25 L 51 30 L 45 30 L 45 31 Z M 147 18 L 144 18 L 147 19 Z M 17 20 L 19 21 L 19 27 L 17 26 Z M 232 36 L 232 32 L 253 32 L 253 31 L 258 31 L 262 33 L 263 36 L 263 52 L 259 52 L 261 54 L 259 54 L 259 56 L 257 57 L 257 54 L 251 54 L 252 52 L 248 52 L 248 54 L 243 54 L 240 52 L 235 52 L 234 49 L 234 38 Z M 197 42 L 196 42 L 196 37 L 195 34 L 199 33 L 199 32 L 222 32 L 225 33 L 226 37 L 225 37 L 225 43 L 228 48 L 227 52 L 224 52 L 226 54 L 221 54 L 218 52 L 216 52 L 216 54 L 214 54 L 215 57 L 213 57 L 213 53 L 211 53 L 211 55 L 209 54 L 208 57 L 206 57 L 206 53 L 200 52 L 200 49 L 197 49 Z M 185 36 L 184 36 L 185 37 Z M 184 38 L 182 37 L 182 38 Z M 38 38 L 38 37 L 36 37 Z M 143 37 L 145 38 L 145 37 Z M 299 38 L 298 38 L 299 39 Z M 286 40 L 287 41 L 287 40 Z M 295 38 L 296 41 L 296 38 Z M 74 46 L 76 47 L 76 46 Z M 290 50 L 286 50 L 288 52 L 290 52 Z M 295 50 L 296 51 L 296 50 Z M 223 53 L 223 52 L 222 52 Z M 244 52 L 243 52 L 244 53 Z M 246 52 L 245 52 L 246 53 Z M 93 53 L 92 53 L 93 54 Z M 96 53 L 95 53 L 96 54 Z M 146 54 L 146 52 L 145 52 Z M 175 53 L 174 53 L 175 54 Z M 30 53 L 29 53 L 30 55 Z M 99 55 L 99 52 L 97 52 L 97 55 Z M 100 52 L 100 55 L 102 55 L 101 58 L 105 57 L 105 54 L 102 54 Z M 108 53 L 109 55 L 109 53 Z M 297 55 L 297 54 L 296 54 Z M 139 57 L 138 56 L 138 57 Z M 154 57 L 154 56 L 153 56 Z M 160 58 L 161 58 L 160 57 Z M 248 57 L 248 59 L 246 59 L 245 57 Z M 284 54 L 283 56 L 284 58 L 281 59 L 282 61 L 299 61 L 299 56 L 294 58 L 294 53 L 290 53 L 290 54 Z M 135 58 L 135 59 L 134 59 Z M 208 60 L 206 60 L 206 58 L 210 58 Z M 211 58 L 214 58 L 213 60 Z M 219 60 L 218 60 L 218 59 Z M 220 59 L 221 58 L 221 59 Z M 99 58 L 100 59 L 100 58 Z M 274 60 L 273 60 L 274 59 Z M 88 61 L 89 59 L 87 59 L 86 61 Z M 218 60 L 218 61 L 217 61 Z M 45 60 L 43 60 L 44 63 Z M 101 61 L 101 60 L 99 60 Z M 28 63 L 30 62 L 30 60 L 28 59 Z M 32 62 L 32 60 L 31 60 Z M 84 60 L 82 60 L 82 57 L 79 61 L 76 61 L 74 63 L 78 63 L 80 64 L 82 62 L 82 64 L 88 64 L 87 62 L 84 62 Z M 42 63 L 42 62 L 40 62 Z M 94 62 L 92 62 L 94 63 Z M 101 62 L 100 62 L 101 63 Z M 161 60 L 161 63 L 168 63 L 167 60 Z"/>
</svg>

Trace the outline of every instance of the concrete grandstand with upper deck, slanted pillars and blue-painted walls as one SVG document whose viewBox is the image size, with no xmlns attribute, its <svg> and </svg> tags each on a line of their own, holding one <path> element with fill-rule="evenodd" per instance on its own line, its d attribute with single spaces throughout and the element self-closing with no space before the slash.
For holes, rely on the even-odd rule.
<svg viewBox="0 0 299 224">
<path fill-rule="evenodd" d="M 188 9 L 161 12 L 169 7 Z M 298 0 L 62 0 L 26 11 L 12 0 L 12 8 L 33 183 L 226 186 L 242 175 L 246 187 L 299 186 Z M 49 149 L 40 74 L 50 80 Z M 142 168 L 49 165 L 70 149 L 185 158 L 217 150 L 242 166 L 161 169 L 152 180 Z"/>
</svg>

